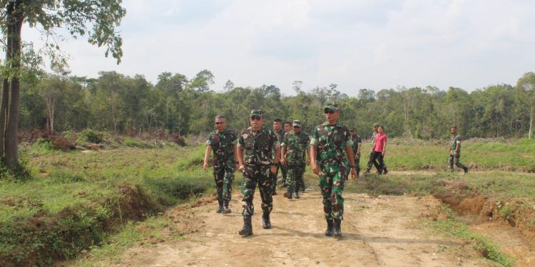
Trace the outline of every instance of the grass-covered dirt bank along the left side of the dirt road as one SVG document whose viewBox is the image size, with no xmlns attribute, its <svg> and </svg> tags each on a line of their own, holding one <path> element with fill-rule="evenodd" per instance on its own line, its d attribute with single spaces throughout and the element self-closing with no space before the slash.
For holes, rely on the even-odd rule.
<svg viewBox="0 0 535 267">
<path fill-rule="evenodd" d="M 116 199 L 69 206 L 57 214 L 41 210 L 31 218 L 0 226 L 0 239 L 6 240 L 5 245 L 18 247 L 9 255 L 0 256 L 0 266 L 44 266 L 72 258 L 100 243 L 104 233 L 115 231 L 126 221 L 139 221 L 163 211 L 139 187 L 123 185 L 118 190 L 121 197 Z M 84 197 L 83 193 L 79 195 Z M 21 200 L 0 201 L 19 205 Z M 111 212 L 103 212 L 106 206 L 111 207 Z"/>
</svg>

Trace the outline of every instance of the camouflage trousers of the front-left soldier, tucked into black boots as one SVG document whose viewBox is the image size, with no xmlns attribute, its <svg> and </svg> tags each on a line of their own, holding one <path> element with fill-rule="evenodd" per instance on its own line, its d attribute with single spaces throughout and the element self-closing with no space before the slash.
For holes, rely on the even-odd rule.
<svg viewBox="0 0 535 267">
<path fill-rule="evenodd" d="M 269 214 L 273 209 L 273 197 L 271 192 L 273 189 L 273 180 L 270 177 L 270 165 L 245 165 L 243 170 L 242 181 L 242 206 L 243 216 L 252 216 L 255 214 L 255 206 L 253 206 L 253 197 L 255 196 L 256 185 L 260 191 L 260 199 L 262 199 L 262 211 Z"/>
</svg>

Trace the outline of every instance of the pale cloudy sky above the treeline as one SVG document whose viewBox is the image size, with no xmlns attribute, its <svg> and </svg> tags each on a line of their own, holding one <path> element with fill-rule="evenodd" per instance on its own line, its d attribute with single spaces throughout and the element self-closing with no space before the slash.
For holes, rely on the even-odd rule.
<svg viewBox="0 0 535 267">
<path fill-rule="evenodd" d="M 535 71 L 532 0 L 123 0 L 123 58 L 105 58 L 86 38 L 67 38 L 72 75 L 101 70 L 193 78 L 208 69 L 211 89 L 276 85 L 293 95 L 338 85 L 361 88 L 450 86 L 467 91 L 515 85 Z M 23 29 L 39 47 L 39 33 Z"/>
</svg>

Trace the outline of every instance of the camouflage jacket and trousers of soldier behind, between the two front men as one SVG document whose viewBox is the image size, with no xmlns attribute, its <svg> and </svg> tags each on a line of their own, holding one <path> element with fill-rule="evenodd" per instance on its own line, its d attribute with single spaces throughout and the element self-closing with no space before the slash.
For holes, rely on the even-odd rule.
<svg viewBox="0 0 535 267">
<path fill-rule="evenodd" d="M 286 147 L 286 184 L 288 191 L 295 189 L 299 192 L 302 183 L 302 176 L 305 173 L 307 164 L 305 153 L 310 148 L 310 137 L 306 132 L 295 133 L 294 131 L 286 132 L 281 146 Z"/>
</svg>

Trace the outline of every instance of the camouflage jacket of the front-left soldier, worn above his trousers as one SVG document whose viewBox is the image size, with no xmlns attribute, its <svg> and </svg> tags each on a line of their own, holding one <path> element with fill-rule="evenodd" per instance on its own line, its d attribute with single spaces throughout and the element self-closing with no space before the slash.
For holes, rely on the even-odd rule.
<svg viewBox="0 0 535 267">
<path fill-rule="evenodd" d="M 243 159 L 246 165 L 270 165 L 273 153 L 280 146 L 275 132 L 262 127 L 258 132 L 252 127 L 243 130 L 238 147 L 243 148 Z"/>
</svg>

